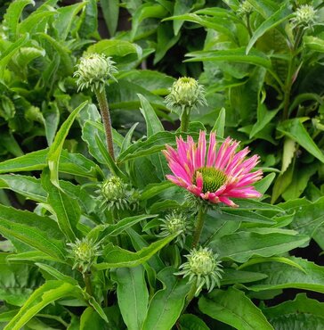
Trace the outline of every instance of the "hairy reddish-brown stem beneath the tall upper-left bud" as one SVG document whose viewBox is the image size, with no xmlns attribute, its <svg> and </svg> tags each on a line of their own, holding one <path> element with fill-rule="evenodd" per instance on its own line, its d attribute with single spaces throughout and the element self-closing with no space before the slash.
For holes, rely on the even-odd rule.
<svg viewBox="0 0 324 330">
<path fill-rule="evenodd" d="M 112 130 L 111 130 L 111 120 L 109 113 L 109 104 L 107 102 L 106 91 L 103 88 L 102 91 L 99 88 L 95 89 L 95 95 L 99 103 L 99 108 L 101 110 L 101 118 L 103 122 L 103 127 L 105 128 L 106 141 L 108 145 L 108 151 L 113 160 L 115 160 L 114 155 L 114 144 L 112 142 Z"/>
</svg>

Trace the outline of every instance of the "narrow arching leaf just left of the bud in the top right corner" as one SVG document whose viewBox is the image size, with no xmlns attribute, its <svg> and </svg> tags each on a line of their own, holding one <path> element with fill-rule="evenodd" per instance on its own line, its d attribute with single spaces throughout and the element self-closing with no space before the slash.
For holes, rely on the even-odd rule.
<svg viewBox="0 0 324 330">
<path fill-rule="evenodd" d="M 263 21 L 257 29 L 255 29 L 253 36 L 247 44 L 246 54 L 250 52 L 259 37 L 262 37 L 264 33 L 275 28 L 283 21 L 288 21 L 291 17 L 293 17 L 293 14 L 288 10 L 287 4 L 283 4 L 277 12 L 274 12 L 270 17 Z"/>
</svg>

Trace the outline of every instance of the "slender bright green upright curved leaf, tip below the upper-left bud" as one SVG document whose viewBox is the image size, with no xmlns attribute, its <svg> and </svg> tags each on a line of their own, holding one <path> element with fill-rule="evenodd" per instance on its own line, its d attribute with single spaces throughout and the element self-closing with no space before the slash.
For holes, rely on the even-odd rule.
<svg viewBox="0 0 324 330">
<path fill-rule="evenodd" d="M 59 161 L 65 138 L 68 136 L 69 128 L 76 119 L 78 112 L 85 107 L 86 103 L 87 102 L 80 104 L 74 111 L 71 112 L 69 118 L 61 125 L 61 128 L 55 136 L 53 144 L 48 151 L 47 161 L 51 170 L 51 181 L 54 186 L 59 187 Z"/>
</svg>

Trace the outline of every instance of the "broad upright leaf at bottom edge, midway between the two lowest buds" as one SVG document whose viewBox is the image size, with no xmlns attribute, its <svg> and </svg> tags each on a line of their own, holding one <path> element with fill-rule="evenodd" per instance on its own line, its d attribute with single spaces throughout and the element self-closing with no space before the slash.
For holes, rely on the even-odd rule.
<svg viewBox="0 0 324 330">
<path fill-rule="evenodd" d="M 114 279 L 117 282 L 118 306 L 127 329 L 140 330 L 149 303 L 144 268 L 117 268 Z"/>
</svg>

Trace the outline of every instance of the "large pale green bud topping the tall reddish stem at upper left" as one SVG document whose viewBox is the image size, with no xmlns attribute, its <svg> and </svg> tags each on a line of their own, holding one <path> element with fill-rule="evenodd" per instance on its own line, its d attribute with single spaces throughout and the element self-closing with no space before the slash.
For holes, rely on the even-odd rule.
<svg viewBox="0 0 324 330">
<path fill-rule="evenodd" d="M 74 73 L 74 77 L 77 77 L 77 90 L 90 87 L 92 91 L 99 89 L 102 92 L 109 78 L 116 80 L 113 76 L 117 73 L 114 64 L 111 57 L 104 54 L 85 54 Z"/>
</svg>

